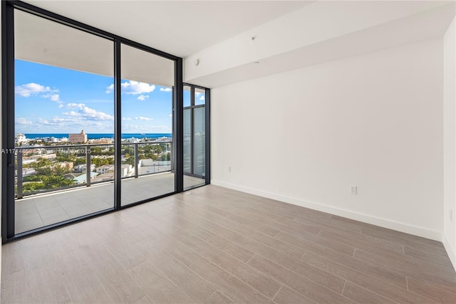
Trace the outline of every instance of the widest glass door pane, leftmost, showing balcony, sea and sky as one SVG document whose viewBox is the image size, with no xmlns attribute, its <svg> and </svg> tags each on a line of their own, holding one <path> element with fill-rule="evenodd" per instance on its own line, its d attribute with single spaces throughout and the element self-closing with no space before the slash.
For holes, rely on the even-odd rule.
<svg viewBox="0 0 456 304">
<path fill-rule="evenodd" d="M 115 109 L 105 93 L 113 83 L 114 44 L 24 11 L 15 10 L 14 20 L 20 234 L 114 207 Z"/>
</svg>

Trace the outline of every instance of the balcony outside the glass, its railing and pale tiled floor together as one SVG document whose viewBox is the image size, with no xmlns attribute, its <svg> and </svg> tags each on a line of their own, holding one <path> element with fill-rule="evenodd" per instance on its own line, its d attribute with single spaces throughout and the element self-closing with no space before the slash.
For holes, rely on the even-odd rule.
<svg viewBox="0 0 456 304">
<path fill-rule="evenodd" d="M 167 160 L 171 145 L 162 141 L 122 144 L 122 206 L 175 191 L 172 162 Z M 113 208 L 113 144 L 17 147 L 15 152 L 16 234 Z M 153 159 L 146 158 L 152 154 Z M 90 170 L 83 171 L 86 168 Z M 46 182 L 27 182 L 40 176 Z M 204 179 L 185 176 L 186 188 L 201 184 Z"/>
</svg>

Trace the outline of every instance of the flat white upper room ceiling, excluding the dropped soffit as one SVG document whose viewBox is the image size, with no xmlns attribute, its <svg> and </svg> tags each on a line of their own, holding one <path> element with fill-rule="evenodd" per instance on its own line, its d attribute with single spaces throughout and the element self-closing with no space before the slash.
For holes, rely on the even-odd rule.
<svg viewBox="0 0 456 304">
<path fill-rule="evenodd" d="M 186 57 L 314 1 L 25 2 L 160 51 Z"/>
</svg>

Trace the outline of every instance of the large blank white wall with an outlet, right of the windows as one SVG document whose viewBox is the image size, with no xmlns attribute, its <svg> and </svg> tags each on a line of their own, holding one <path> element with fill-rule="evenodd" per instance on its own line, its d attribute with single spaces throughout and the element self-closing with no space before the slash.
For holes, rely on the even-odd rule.
<svg viewBox="0 0 456 304">
<path fill-rule="evenodd" d="M 214 88 L 212 183 L 440 241 L 442 52 L 439 38 Z"/>
</svg>

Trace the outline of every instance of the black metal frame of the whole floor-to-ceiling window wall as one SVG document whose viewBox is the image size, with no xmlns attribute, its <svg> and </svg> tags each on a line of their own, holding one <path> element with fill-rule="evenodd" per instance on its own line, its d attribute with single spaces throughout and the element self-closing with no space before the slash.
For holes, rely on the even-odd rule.
<svg viewBox="0 0 456 304">
<path fill-rule="evenodd" d="M 25 236 L 31 236 L 34 234 L 39 234 L 43 231 L 48 231 L 51 229 L 56 229 L 61 226 L 66 226 L 68 224 L 73 224 L 78 221 L 83 221 L 86 219 L 91 219 L 96 216 L 103 214 L 109 214 L 113 211 L 119 211 L 125 208 L 130 208 L 138 204 L 143 204 L 147 201 L 153 201 L 155 199 L 160 199 L 164 196 L 170 196 L 183 191 L 183 64 L 182 58 L 174 56 L 170 53 L 165 53 L 163 51 L 145 46 L 141 43 L 131 41 L 130 39 L 117 36 L 113 33 L 108 33 L 107 31 L 100 30 L 93 26 L 88 26 L 85 23 L 69 19 L 65 16 L 61 16 L 51 11 L 46 11 L 37 6 L 27 4 L 22 1 L 12 1 L 6 0 L 1 1 L 1 119 L 2 119 L 2 131 L 1 131 L 1 145 L 3 151 L 14 151 L 14 10 L 19 9 L 25 11 L 29 14 L 35 16 L 40 16 L 41 18 L 48 19 L 57 23 L 61 23 L 72 28 L 76 28 L 80 31 L 85 31 L 91 33 L 95 36 L 100 36 L 106 38 L 110 41 L 113 41 L 114 44 L 114 103 L 115 103 L 115 168 L 120 168 L 120 152 L 121 152 L 121 90 L 120 90 L 120 46 L 125 44 L 127 46 L 132 46 L 138 48 L 142 51 L 152 53 L 163 58 L 170 59 L 175 62 L 175 86 L 172 88 L 173 96 L 173 117 L 172 117 L 172 129 L 173 129 L 173 164 L 172 168 L 175 172 L 175 191 L 169 194 L 164 194 L 162 196 L 155 196 L 151 199 L 146 199 L 143 201 L 138 201 L 134 204 L 128 204 L 126 206 L 121 206 L 120 204 L 120 170 L 115 170 L 115 182 L 114 182 L 114 195 L 115 195 L 115 204 L 112 209 L 107 209 L 105 211 L 99 211 L 97 213 L 88 214 L 86 216 L 80 216 L 75 219 L 70 219 L 67 221 L 62 221 L 60 223 L 51 224 L 48 226 L 43 226 L 38 229 L 33 229 L 31 231 L 26 231 L 21 234 L 14 234 L 14 154 L 11 153 L 2 153 L 2 167 L 1 167 L 1 236 L 2 243 L 7 243 L 9 241 L 14 241 L 16 239 L 21 239 Z M 197 86 L 198 87 L 198 86 Z M 202 88 L 202 87 L 198 87 Z M 209 100 L 210 93 L 208 88 L 202 88 L 206 90 L 206 179 L 205 184 L 210 183 L 210 149 L 209 149 Z M 13 130 L 13 132 L 11 132 Z M 11 136 L 11 133 L 13 135 Z M 11 169 L 12 168 L 12 169 Z M 12 181 L 12 182 L 11 182 Z M 11 197 L 12 196 L 12 197 Z"/>
</svg>

